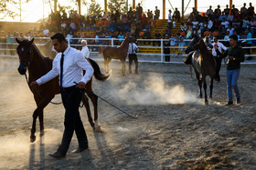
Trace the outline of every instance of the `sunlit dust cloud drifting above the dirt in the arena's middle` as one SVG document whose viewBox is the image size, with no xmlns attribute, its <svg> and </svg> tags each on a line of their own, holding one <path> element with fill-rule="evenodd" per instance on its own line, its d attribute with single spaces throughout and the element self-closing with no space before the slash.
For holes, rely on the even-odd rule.
<svg viewBox="0 0 256 170">
<path fill-rule="evenodd" d="M 153 74 L 138 86 L 132 80 L 117 91 L 129 105 L 166 105 L 199 103 L 197 95 L 186 91 L 183 85 L 167 85 L 161 75 Z"/>
</svg>

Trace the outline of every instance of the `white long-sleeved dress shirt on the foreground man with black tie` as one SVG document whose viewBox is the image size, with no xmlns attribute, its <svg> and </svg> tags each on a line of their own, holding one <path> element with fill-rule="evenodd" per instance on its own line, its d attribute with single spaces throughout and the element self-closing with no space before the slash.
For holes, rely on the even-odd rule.
<svg viewBox="0 0 256 170">
<path fill-rule="evenodd" d="M 87 84 L 91 80 L 93 75 L 93 68 L 91 67 L 88 60 L 81 54 L 81 52 L 75 48 L 68 46 L 65 50 L 64 62 L 63 62 L 63 75 L 62 75 L 62 86 L 69 87 L 75 85 L 73 82 L 83 82 Z M 60 75 L 60 58 L 61 53 L 55 56 L 52 69 L 48 74 L 41 76 L 37 79 L 37 84 L 42 85 L 47 83 L 49 80 Z M 82 70 L 85 70 L 83 75 Z M 60 78 L 59 78 L 60 79 Z"/>
</svg>

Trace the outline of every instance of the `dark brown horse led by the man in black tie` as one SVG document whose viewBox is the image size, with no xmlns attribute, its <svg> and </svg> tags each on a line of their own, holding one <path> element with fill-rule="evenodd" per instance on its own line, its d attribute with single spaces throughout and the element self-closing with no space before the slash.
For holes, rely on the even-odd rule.
<svg viewBox="0 0 256 170">
<path fill-rule="evenodd" d="M 19 56 L 19 67 L 18 72 L 20 75 L 26 75 L 28 70 L 28 80 L 27 84 L 30 85 L 32 81 L 37 80 L 42 75 L 46 75 L 52 67 L 52 59 L 44 57 L 41 55 L 40 51 L 37 49 L 37 46 L 33 44 L 34 38 L 31 41 L 23 40 L 20 41 L 16 38 L 16 42 L 19 44 L 16 48 L 16 52 Z M 90 59 L 90 63 L 94 69 L 94 76 L 101 81 L 107 80 L 110 75 L 102 75 L 99 65 Z M 91 88 L 92 78 L 86 85 L 86 94 L 91 98 L 91 102 L 94 106 L 94 122 L 92 121 L 91 111 L 89 106 L 88 98 L 83 95 L 82 102 L 86 107 L 87 115 L 89 122 L 93 129 L 97 129 L 100 126 L 98 125 L 98 107 L 97 100 L 98 96 L 95 95 Z M 40 123 L 40 135 L 44 135 L 44 108 L 48 103 L 53 99 L 53 97 L 59 94 L 59 77 L 55 77 L 44 85 L 38 87 L 29 86 L 31 92 L 34 95 L 34 99 L 37 104 L 37 109 L 33 113 L 33 123 L 31 128 L 30 141 L 34 142 L 36 140 L 36 121 L 39 117 Z"/>
</svg>

